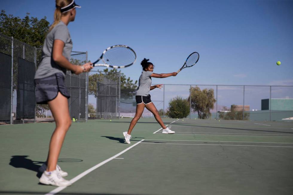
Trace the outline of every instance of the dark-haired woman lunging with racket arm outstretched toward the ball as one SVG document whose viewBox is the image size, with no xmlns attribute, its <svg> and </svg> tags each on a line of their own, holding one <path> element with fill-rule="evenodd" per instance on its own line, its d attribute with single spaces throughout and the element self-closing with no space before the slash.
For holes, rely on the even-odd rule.
<svg viewBox="0 0 293 195">
<path fill-rule="evenodd" d="M 139 77 L 138 90 L 137 90 L 136 96 L 135 96 L 135 99 L 136 99 L 135 116 L 132 119 L 132 121 L 130 122 L 128 131 L 123 132 L 125 141 L 128 144 L 130 144 L 130 138 L 131 138 L 130 133 L 131 133 L 132 129 L 134 128 L 134 126 L 136 125 L 138 119 L 141 118 L 141 115 L 144 111 L 144 107 L 146 107 L 146 109 L 148 109 L 149 111 L 151 111 L 153 113 L 153 115 L 155 116 L 155 119 L 163 128 L 162 133 L 175 133 L 175 131 L 170 130 L 170 128 L 166 128 L 166 126 L 164 125 L 157 108 L 152 103 L 151 96 L 149 95 L 149 91 L 153 90 L 155 88 L 161 89 L 161 87 L 162 87 L 161 84 L 151 86 L 152 77 L 166 78 L 169 76 L 176 76 L 177 73 L 176 72 L 166 73 L 166 74 L 152 73 L 152 71 L 154 70 L 154 65 L 151 62 L 149 62 L 149 59 L 145 59 L 145 58 L 141 61 L 141 66 L 142 66 L 143 71 L 141 73 L 141 76 Z"/>
</svg>

